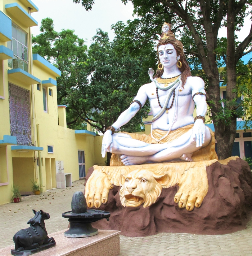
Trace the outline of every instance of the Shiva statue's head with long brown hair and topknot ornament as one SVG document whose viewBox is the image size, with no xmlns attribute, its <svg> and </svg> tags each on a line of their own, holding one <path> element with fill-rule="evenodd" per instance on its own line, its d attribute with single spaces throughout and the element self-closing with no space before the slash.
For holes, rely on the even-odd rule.
<svg viewBox="0 0 252 256">
<path fill-rule="evenodd" d="M 182 66 L 179 69 L 182 73 L 181 80 L 182 80 L 182 86 L 184 87 L 186 78 L 191 75 L 191 71 L 190 71 L 189 64 L 185 58 L 185 53 L 183 51 L 183 44 L 180 42 L 180 40 L 177 40 L 175 38 L 174 33 L 171 31 L 171 24 L 168 24 L 165 22 L 162 26 L 162 31 L 163 31 L 162 36 L 159 39 L 159 42 L 157 44 L 158 64 L 161 63 L 162 65 L 168 67 L 168 65 L 174 65 L 174 64 L 177 64 L 178 61 L 181 61 Z M 169 51 L 169 53 L 171 54 L 171 61 L 167 63 L 160 61 L 160 59 L 162 59 L 161 56 L 163 51 Z M 157 69 L 155 77 L 161 77 L 162 74 L 163 74 L 163 69 L 161 70 Z"/>
</svg>

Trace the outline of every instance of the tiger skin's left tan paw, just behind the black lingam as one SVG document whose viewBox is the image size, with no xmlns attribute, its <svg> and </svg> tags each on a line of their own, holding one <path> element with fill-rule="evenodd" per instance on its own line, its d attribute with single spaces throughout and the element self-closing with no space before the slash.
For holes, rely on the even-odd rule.
<svg viewBox="0 0 252 256">
<path fill-rule="evenodd" d="M 108 193 L 112 188 L 113 185 L 108 180 L 107 175 L 102 170 L 94 170 L 85 187 L 87 206 L 89 208 L 99 208 L 102 203 L 107 203 Z"/>
</svg>

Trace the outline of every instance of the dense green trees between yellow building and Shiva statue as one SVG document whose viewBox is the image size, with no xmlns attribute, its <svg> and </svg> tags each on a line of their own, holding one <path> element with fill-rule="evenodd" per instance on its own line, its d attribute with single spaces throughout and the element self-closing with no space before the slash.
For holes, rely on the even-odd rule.
<svg viewBox="0 0 252 256">
<path fill-rule="evenodd" d="M 50 18 L 42 20 L 40 31 L 33 37 L 33 52 L 62 71 L 57 78 L 57 94 L 58 103 L 68 106 L 68 127 L 86 129 L 89 123 L 104 133 L 148 81 L 148 65 L 145 76 L 142 68 L 145 56 L 130 55 L 123 49 L 120 36 L 111 42 L 108 33 L 100 29 L 89 49 L 73 30 L 56 32 Z M 147 103 L 121 130 L 141 131 L 141 116 L 146 117 L 148 112 Z"/>
</svg>

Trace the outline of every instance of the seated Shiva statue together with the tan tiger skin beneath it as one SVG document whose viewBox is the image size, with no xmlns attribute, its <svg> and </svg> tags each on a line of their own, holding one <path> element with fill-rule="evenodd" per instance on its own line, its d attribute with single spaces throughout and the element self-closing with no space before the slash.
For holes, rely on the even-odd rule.
<svg viewBox="0 0 252 256">
<path fill-rule="evenodd" d="M 157 44 L 158 69 L 149 69 L 151 83 L 138 94 L 116 122 L 105 131 L 102 157 L 112 152 L 110 166 L 94 166 L 86 183 L 88 207 L 99 208 L 108 193 L 120 186 L 124 207 L 149 207 L 162 188 L 179 186 L 174 196 L 180 208 L 200 207 L 208 191 L 206 167 L 218 160 L 213 132 L 205 126 L 204 81 L 192 77 L 182 43 L 164 23 Z M 150 102 L 151 134 L 115 133 Z M 193 117 L 196 105 L 197 116 Z"/>
</svg>

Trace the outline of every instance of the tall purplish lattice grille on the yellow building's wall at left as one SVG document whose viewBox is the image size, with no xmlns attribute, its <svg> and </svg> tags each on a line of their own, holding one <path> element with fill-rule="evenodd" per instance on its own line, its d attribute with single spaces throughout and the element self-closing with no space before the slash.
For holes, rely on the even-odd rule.
<svg viewBox="0 0 252 256">
<path fill-rule="evenodd" d="M 18 145 L 32 146 L 30 92 L 9 84 L 10 135 Z"/>
</svg>

